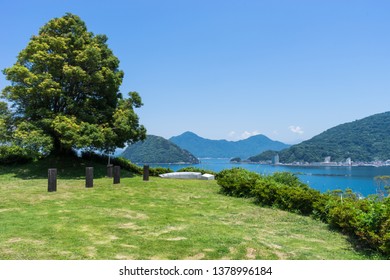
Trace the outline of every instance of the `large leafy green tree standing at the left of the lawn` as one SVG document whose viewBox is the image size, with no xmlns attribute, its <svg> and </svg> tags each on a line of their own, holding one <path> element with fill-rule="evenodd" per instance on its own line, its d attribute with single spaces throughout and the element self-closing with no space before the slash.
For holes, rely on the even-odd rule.
<svg viewBox="0 0 390 280">
<path fill-rule="evenodd" d="M 50 20 L 3 73 L 11 85 L 2 96 L 12 104 L 19 138 L 49 137 L 51 144 L 42 143 L 55 153 L 109 152 L 145 139 L 134 112 L 143 105 L 140 96 L 122 96 L 124 74 L 107 37 L 89 32 L 76 15 Z"/>
</svg>

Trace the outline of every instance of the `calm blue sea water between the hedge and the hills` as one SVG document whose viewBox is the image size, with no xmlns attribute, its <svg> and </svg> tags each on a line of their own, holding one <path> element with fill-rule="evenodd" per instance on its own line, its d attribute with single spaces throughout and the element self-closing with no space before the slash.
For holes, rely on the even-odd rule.
<svg viewBox="0 0 390 280">
<path fill-rule="evenodd" d="M 229 159 L 205 158 L 200 160 L 200 164 L 151 164 L 151 167 L 168 167 L 173 171 L 177 171 L 183 167 L 194 166 L 215 172 L 233 167 L 241 167 L 263 175 L 287 171 L 296 174 L 302 182 L 321 192 L 349 188 L 365 197 L 377 193 L 378 185 L 374 179 L 376 176 L 390 175 L 390 166 L 275 166 L 252 163 L 230 163 Z"/>
</svg>

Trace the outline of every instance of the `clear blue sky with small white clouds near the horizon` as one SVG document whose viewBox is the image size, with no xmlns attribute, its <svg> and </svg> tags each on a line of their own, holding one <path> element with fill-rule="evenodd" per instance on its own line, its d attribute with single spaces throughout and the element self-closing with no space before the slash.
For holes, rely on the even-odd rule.
<svg viewBox="0 0 390 280">
<path fill-rule="evenodd" d="M 376 0 L 0 0 L 0 69 L 71 12 L 108 36 L 148 133 L 296 143 L 390 110 L 389 11 Z"/>
</svg>

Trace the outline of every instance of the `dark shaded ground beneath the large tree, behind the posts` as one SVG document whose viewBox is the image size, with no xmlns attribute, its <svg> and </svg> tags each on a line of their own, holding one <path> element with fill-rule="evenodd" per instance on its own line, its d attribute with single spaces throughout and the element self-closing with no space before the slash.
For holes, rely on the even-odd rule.
<svg viewBox="0 0 390 280">
<path fill-rule="evenodd" d="M 53 156 L 31 163 L 0 165 L 0 176 L 13 174 L 13 177 L 22 180 L 47 179 L 48 169 L 56 168 L 58 178 L 77 180 L 85 178 L 86 167 L 94 168 L 95 179 L 107 177 L 106 165 L 75 156 Z M 130 171 L 121 169 L 121 178 L 134 176 Z"/>
</svg>

